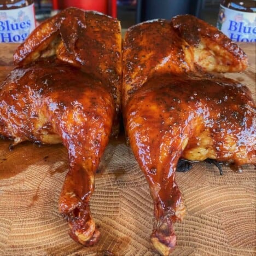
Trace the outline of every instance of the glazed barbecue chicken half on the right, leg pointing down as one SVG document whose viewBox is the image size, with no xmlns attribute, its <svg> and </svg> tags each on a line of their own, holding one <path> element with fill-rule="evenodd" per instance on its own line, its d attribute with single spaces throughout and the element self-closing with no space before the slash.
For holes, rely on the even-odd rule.
<svg viewBox="0 0 256 256">
<path fill-rule="evenodd" d="M 173 251 L 173 223 L 185 213 L 175 181 L 179 158 L 256 162 L 251 92 L 209 73 L 246 67 L 235 43 L 194 16 L 143 22 L 125 34 L 125 129 L 154 201 L 151 241 L 163 255 Z"/>
</svg>

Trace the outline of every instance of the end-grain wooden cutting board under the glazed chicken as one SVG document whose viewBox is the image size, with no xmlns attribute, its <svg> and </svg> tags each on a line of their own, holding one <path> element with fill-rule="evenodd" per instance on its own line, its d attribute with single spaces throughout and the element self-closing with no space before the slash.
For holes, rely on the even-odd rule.
<svg viewBox="0 0 256 256">
<path fill-rule="evenodd" d="M 17 45 L 0 44 L 0 82 L 12 67 Z M 255 44 L 241 44 L 250 66 L 228 74 L 255 96 Z M 101 240 L 83 247 L 68 236 L 57 202 L 68 170 L 66 149 L 22 143 L 13 151 L 0 140 L 0 255 L 155 255 L 150 245 L 153 200 L 133 154 L 124 142 L 111 142 L 96 174 L 91 211 Z M 187 215 L 175 224 L 173 255 L 255 255 L 254 166 L 242 173 L 205 162 L 177 173 Z"/>
</svg>

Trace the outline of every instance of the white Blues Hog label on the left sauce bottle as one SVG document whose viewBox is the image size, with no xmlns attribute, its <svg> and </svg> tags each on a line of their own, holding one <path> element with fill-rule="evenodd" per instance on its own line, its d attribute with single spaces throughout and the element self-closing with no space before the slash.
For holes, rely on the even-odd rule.
<svg viewBox="0 0 256 256">
<path fill-rule="evenodd" d="M 21 43 L 35 27 L 34 4 L 0 10 L 0 43 Z"/>
</svg>

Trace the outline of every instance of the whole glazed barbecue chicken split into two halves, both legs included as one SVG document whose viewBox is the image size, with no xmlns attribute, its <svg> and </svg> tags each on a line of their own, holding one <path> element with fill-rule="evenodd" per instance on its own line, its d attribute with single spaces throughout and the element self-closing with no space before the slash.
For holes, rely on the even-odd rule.
<svg viewBox="0 0 256 256">
<path fill-rule="evenodd" d="M 0 135 L 63 143 L 69 171 L 59 200 L 70 235 L 97 242 L 89 210 L 97 166 L 118 126 L 120 24 L 75 8 L 43 22 L 14 54 L 0 87 Z M 247 67 L 245 53 L 216 28 L 190 15 L 131 27 L 123 48 L 123 115 L 133 153 L 149 183 L 156 218 L 154 247 L 176 245 L 173 223 L 185 207 L 175 182 L 180 158 L 255 163 L 251 93 L 210 72 Z"/>
</svg>

